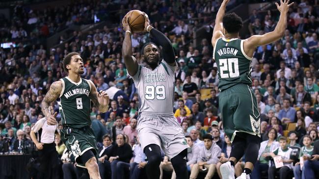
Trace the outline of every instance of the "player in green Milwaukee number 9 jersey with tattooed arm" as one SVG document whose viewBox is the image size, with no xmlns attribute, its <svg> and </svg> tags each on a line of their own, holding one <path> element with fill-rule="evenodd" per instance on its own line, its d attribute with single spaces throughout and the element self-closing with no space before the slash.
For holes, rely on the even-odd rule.
<svg viewBox="0 0 319 179">
<path fill-rule="evenodd" d="M 54 82 L 42 101 L 42 112 L 48 125 L 56 125 L 57 112 L 52 114 L 49 105 L 59 98 L 61 114 L 61 140 L 72 151 L 77 166 L 86 168 L 90 179 L 101 179 L 97 163 L 98 149 L 90 119 L 91 101 L 100 112 L 108 109 L 109 97 L 105 91 L 96 90 L 92 81 L 80 77 L 84 73 L 83 60 L 77 52 L 63 59 L 63 68 L 68 76 Z M 82 176 L 82 178 L 87 176 Z"/>
</svg>

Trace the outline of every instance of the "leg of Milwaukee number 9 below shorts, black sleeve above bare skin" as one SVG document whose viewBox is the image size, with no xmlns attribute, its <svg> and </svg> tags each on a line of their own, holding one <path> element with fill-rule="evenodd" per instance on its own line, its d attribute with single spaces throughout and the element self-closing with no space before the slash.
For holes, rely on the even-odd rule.
<svg viewBox="0 0 319 179">
<path fill-rule="evenodd" d="M 84 152 L 81 156 L 81 160 L 82 163 L 85 163 L 90 179 L 101 179 L 99 165 L 92 150 Z"/>
</svg>

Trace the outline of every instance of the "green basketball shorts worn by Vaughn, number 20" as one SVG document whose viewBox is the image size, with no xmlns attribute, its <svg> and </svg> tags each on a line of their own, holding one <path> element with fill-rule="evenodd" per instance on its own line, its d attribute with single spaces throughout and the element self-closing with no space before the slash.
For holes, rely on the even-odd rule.
<svg viewBox="0 0 319 179">
<path fill-rule="evenodd" d="M 238 132 L 260 136 L 257 100 L 248 85 L 238 84 L 221 91 L 219 108 L 225 134 L 232 142 Z"/>
</svg>

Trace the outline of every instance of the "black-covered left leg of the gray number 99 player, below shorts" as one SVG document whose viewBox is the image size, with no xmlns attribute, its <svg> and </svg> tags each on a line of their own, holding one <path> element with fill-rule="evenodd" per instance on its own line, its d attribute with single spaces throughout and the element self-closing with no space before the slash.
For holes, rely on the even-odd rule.
<svg viewBox="0 0 319 179">
<path fill-rule="evenodd" d="M 160 146 L 157 144 L 150 144 L 144 147 L 144 153 L 148 159 L 146 165 L 146 174 L 148 179 L 160 178 L 160 161 L 161 153 Z"/>
</svg>

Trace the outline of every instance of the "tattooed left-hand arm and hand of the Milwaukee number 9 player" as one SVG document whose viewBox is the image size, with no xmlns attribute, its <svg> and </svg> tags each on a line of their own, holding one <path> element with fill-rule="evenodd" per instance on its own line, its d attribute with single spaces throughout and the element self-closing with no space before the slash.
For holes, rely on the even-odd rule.
<svg viewBox="0 0 319 179">
<path fill-rule="evenodd" d="M 48 120 L 47 123 L 49 125 L 56 125 L 57 124 L 57 122 L 55 120 L 57 112 L 54 112 L 54 114 L 52 114 L 50 112 L 49 106 L 50 106 L 50 103 L 55 101 L 60 96 L 61 91 L 62 91 L 62 82 L 56 81 L 53 84 L 51 84 L 50 90 L 47 92 L 47 94 L 44 96 L 44 98 L 42 100 L 41 110 L 42 110 L 43 114 L 46 116 L 46 118 Z"/>
</svg>

